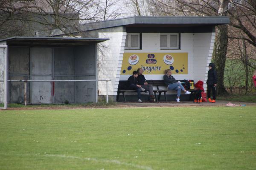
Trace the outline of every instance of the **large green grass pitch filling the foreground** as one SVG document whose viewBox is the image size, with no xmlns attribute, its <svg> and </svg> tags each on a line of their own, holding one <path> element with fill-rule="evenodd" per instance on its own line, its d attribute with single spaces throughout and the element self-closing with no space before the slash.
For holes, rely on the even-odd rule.
<svg viewBox="0 0 256 170">
<path fill-rule="evenodd" d="M 251 170 L 256 107 L 0 111 L 0 170 Z"/>
</svg>

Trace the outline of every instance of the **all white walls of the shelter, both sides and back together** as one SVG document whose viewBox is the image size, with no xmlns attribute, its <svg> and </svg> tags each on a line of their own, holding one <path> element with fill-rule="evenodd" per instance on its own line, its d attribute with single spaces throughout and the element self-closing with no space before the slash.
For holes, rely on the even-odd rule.
<svg viewBox="0 0 256 170">
<path fill-rule="evenodd" d="M 98 79 L 111 79 L 109 95 L 116 95 L 119 80 L 130 75 L 120 75 L 123 53 L 188 53 L 188 74 L 174 74 L 175 79 L 204 81 L 206 90 L 208 65 L 212 59 L 215 33 L 181 33 L 180 49 L 160 50 L 160 33 L 142 33 L 142 50 L 125 50 L 126 32 L 100 32 L 99 38 L 110 40 L 98 45 Z M 163 79 L 163 75 L 145 75 L 146 79 Z M 106 95 L 106 82 L 98 83 L 99 95 Z"/>
</svg>

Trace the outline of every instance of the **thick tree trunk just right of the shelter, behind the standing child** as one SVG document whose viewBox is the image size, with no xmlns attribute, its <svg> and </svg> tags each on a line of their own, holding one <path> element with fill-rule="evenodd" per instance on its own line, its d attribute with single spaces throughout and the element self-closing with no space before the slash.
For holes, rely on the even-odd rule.
<svg viewBox="0 0 256 170">
<path fill-rule="evenodd" d="M 218 8 L 219 16 L 227 15 L 228 0 L 220 0 L 220 6 Z M 228 94 L 224 86 L 224 69 L 226 63 L 227 54 L 227 25 L 217 26 L 215 44 L 213 49 L 213 62 L 216 65 L 216 71 L 218 76 L 217 95 Z"/>
</svg>

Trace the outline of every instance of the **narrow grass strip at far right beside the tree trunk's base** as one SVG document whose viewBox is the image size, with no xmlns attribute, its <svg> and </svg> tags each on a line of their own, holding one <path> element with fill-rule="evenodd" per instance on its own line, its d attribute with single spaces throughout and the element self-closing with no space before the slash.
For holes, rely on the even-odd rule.
<svg viewBox="0 0 256 170">
<path fill-rule="evenodd" d="M 256 95 L 228 95 L 228 96 L 218 96 L 218 100 L 227 100 L 233 102 L 256 102 Z"/>
</svg>

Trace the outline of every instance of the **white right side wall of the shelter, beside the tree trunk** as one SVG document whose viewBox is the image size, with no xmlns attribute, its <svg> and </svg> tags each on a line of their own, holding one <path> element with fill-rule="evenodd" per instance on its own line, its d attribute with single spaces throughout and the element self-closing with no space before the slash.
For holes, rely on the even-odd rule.
<svg viewBox="0 0 256 170">
<path fill-rule="evenodd" d="M 204 82 L 204 90 L 207 90 L 207 73 L 209 63 L 212 60 L 212 52 L 215 41 L 215 33 L 195 33 L 194 34 L 194 81 Z"/>
</svg>

